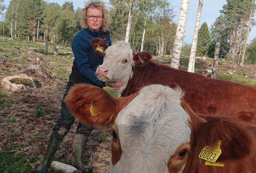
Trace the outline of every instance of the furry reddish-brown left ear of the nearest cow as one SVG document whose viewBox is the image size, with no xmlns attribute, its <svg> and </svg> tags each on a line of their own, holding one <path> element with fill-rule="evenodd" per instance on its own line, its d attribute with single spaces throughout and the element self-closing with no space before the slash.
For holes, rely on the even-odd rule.
<svg viewBox="0 0 256 173">
<path fill-rule="evenodd" d="M 136 96 L 136 95 L 135 95 Z M 64 102 L 74 117 L 89 126 L 107 130 L 117 114 L 135 97 L 115 98 L 97 86 L 76 84 L 70 88 Z"/>
</svg>

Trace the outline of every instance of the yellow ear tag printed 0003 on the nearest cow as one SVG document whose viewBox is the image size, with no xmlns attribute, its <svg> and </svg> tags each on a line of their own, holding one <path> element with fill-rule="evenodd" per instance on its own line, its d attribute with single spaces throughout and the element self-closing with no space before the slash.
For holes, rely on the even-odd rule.
<svg viewBox="0 0 256 173">
<path fill-rule="evenodd" d="M 219 141 L 219 145 L 215 149 L 209 146 L 204 147 L 198 157 L 214 163 L 221 155 L 220 145 L 221 141 Z"/>
</svg>

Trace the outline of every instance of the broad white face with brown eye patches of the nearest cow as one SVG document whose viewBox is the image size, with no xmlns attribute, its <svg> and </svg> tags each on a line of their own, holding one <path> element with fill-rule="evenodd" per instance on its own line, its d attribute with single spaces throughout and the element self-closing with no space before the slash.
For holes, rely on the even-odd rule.
<svg viewBox="0 0 256 173">
<path fill-rule="evenodd" d="M 181 97 L 177 88 L 146 86 L 118 113 L 110 173 L 182 172 L 186 155 L 179 154 L 189 150 L 191 129 Z"/>
</svg>

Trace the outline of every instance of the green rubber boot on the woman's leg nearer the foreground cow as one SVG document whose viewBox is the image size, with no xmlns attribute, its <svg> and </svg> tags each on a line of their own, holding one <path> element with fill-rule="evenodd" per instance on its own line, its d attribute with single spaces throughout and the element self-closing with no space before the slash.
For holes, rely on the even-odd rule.
<svg viewBox="0 0 256 173">
<path fill-rule="evenodd" d="M 83 134 L 76 134 L 73 142 L 73 158 L 71 165 L 79 169 L 83 173 L 93 172 L 90 166 L 86 166 L 83 164 L 83 153 L 85 150 L 87 139 L 88 137 L 85 137 Z"/>
</svg>

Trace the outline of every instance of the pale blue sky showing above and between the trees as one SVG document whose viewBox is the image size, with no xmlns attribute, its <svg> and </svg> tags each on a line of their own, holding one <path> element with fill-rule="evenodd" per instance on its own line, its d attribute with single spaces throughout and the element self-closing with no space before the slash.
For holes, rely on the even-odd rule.
<svg viewBox="0 0 256 173">
<path fill-rule="evenodd" d="M 66 0 L 68 1 L 68 0 Z M 69 0 L 71 1 L 71 0 Z M 104 2 L 108 2 L 108 0 L 103 0 Z M 47 0 L 47 2 L 57 2 L 58 4 L 62 5 L 65 0 Z M 199 0 L 190 0 L 189 1 L 189 10 L 188 10 L 188 17 L 185 27 L 185 38 L 184 41 L 186 43 L 191 43 L 193 40 L 193 34 L 194 34 L 194 28 L 195 28 L 195 19 L 196 19 L 196 13 L 198 8 L 198 2 Z M 213 24 L 215 19 L 220 15 L 219 10 L 222 9 L 222 6 L 226 3 L 225 0 L 204 0 L 203 8 L 202 8 L 202 14 L 201 14 L 201 20 L 200 20 L 200 26 L 202 23 L 206 22 L 208 24 L 208 27 Z M 9 0 L 4 0 L 4 4 L 7 6 L 9 5 Z M 80 0 L 73 0 L 73 4 L 75 9 L 77 7 L 84 7 L 84 1 Z M 174 11 L 176 12 L 176 18 L 175 21 L 178 22 L 179 19 L 179 9 L 181 5 L 181 0 L 171 0 L 171 5 L 174 6 Z M 252 40 L 256 37 L 256 28 L 253 27 L 252 31 L 249 34 L 249 40 Z"/>
</svg>

